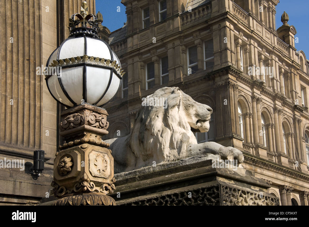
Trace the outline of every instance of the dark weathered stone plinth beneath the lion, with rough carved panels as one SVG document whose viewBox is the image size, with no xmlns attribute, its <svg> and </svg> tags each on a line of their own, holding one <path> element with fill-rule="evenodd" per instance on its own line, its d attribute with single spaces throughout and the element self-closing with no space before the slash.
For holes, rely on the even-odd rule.
<svg viewBox="0 0 309 227">
<path fill-rule="evenodd" d="M 110 196 L 117 205 L 279 205 L 254 172 L 213 168 L 209 158 L 198 155 L 116 174 L 117 189 Z"/>
</svg>

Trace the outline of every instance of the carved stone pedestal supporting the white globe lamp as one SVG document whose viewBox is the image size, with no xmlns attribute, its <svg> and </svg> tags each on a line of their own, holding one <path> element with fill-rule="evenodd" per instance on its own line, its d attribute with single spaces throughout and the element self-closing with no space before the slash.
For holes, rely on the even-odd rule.
<svg viewBox="0 0 309 227">
<path fill-rule="evenodd" d="M 107 111 L 89 104 L 61 113 L 59 146 L 54 159 L 53 205 L 116 205 L 107 194 L 115 189 L 114 159 L 109 144 Z"/>
</svg>

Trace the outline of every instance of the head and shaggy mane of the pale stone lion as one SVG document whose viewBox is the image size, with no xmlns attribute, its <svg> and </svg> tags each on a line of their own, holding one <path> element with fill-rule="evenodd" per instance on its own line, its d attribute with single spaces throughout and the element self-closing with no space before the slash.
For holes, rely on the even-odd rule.
<svg viewBox="0 0 309 227">
<path fill-rule="evenodd" d="M 128 138 L 136 168 L 185 157 L 187 146 L 197 144 L 192 131 L 207 132 L 211 113 L 209 106 L 178 87 L 164 87 L 147 96 Z"/>
</svg>

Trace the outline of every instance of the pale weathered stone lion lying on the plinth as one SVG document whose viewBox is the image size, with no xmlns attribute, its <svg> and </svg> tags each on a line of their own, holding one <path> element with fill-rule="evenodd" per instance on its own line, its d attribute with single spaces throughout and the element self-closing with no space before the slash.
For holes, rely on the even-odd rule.
<svg viewBox="0 0 309 227">
<path fill-rule="evenodd" d="M 197 103 L 178 87 L 158 89 L 146 99 L 150 102 L 142 103 L 132 132 L 105 141 L 111 144 L 115 173 L 150 166 L 154 161 L 159 164 L 207 153 L 243 162 L 243 153 L 236 148 L 215 142 L 197 144 L 193 132 L 209 130 L 209 106 Z"/>
</svg>

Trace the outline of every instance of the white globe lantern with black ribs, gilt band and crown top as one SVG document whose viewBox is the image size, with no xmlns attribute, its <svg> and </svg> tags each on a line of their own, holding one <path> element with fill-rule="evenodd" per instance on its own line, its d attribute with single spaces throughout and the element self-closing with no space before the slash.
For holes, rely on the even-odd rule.
<svg viewBox="0 0 309 227">
<path fill-rule="evenodd" d="M 84 1 L 81 14 L 70 18 L 69 38 L 53 51 L 46 64 L 58 68 L 45 80 L 53 98 L 66 107 L 81 103 L 102 106 L 114 97 L 124 74 L 115 53 L 97 36 L 96 16 L 87 14 Z"/>
</svg>

